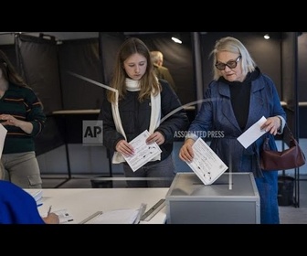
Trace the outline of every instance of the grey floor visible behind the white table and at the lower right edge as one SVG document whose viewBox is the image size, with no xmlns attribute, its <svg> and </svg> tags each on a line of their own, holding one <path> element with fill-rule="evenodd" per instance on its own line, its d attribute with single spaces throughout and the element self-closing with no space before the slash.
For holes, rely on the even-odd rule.
<svg viewBox="0 0 307 256">
<path fill-rule="evenodd" d="M 113 176 L 112 181 L 104 181 L 101 185 L 90 181 L 91 177 L 43 176 L 44 188 L 91 188 L 91 187 L 126 187 L 122 176 Z M 281 224 L 307 224 L 307 176 L 300 176 L 299 194 L 293 204 L 280 206 Z M 287 191 L 284 193 L 287 194 Z M 287 201 L 287 200 L 286 200 Z M 285 204 L 283 201 L 282 204 Z M 295 206 L 296 205 L 296 206 Z"/>
</svg>

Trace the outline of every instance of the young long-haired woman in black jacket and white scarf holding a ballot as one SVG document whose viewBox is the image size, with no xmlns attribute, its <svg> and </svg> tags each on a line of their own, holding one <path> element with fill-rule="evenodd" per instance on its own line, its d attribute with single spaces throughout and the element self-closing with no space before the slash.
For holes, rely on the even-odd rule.
<svg viewBox="0 0 307 256">
<path fill-rule="evenodd" d="M 126 177 L 148 179 L 127 180 L 128 187 L 169 187 L 175 177 L 175 132 L 186 130 L 189 120 L 175 91 L 155 76 L 150 51 L 139 38 L 130 37 L 120 47 L 111 90 L 105 91 L 99 119 L 103 144 L 114 152 L 112 163 L 123 163 Z M 133 155 L 135 148 L 129 143 L 145 130 L 150 133 L 146 143 L 155 142 L 162 153 L 133 172 L 122 155 Z"/>
</svg>

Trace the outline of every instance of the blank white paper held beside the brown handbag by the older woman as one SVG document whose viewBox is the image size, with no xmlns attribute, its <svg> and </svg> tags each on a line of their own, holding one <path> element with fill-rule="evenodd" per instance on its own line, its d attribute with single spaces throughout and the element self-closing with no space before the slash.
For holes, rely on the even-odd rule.
<svg viewBox="0 0 307 256">
<path fill-rule="evenodd" d="M 267 133 L 266 131 L 262 131 L 260 129 L 261 125 L 266 121 L 267 119 L 262 116 L 259 121 L 251 125 L 245 133 L 238 136 L 238 142 L 242 144 L 245 148 L 248 148 L 249 145 L 255 142 L 260 136 L 262 136 L 264 133 Z"/>
</svg>

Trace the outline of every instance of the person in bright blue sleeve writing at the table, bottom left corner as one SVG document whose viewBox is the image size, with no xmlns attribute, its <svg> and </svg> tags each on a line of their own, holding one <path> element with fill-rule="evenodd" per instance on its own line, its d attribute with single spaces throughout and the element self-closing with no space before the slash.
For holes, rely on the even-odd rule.
<svg viewBox="0 0 307 256">
<path fill-rule="evenodd" d="M 23 188 L 6 180 L 0 180 L 0 224 L 58 224 L 54 212 L 41 217 L 37 202 Z"/>
</svg>

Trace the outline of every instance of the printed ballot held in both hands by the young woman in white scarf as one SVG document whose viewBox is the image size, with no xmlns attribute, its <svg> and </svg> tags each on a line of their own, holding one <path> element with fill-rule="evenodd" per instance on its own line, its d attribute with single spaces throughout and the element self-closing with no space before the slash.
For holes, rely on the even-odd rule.
<svg viewBox="0 0 307 256">
<path fill-rule="evenodd" d="M 133 172 L 162 152 L 158 144 L 146 144 L 146 139 L 149 135 L 150 133 L 146 130 L 129 143 L 134 148 L 134 155 L 128 157 L 122 155 Z"/>
</svg>

